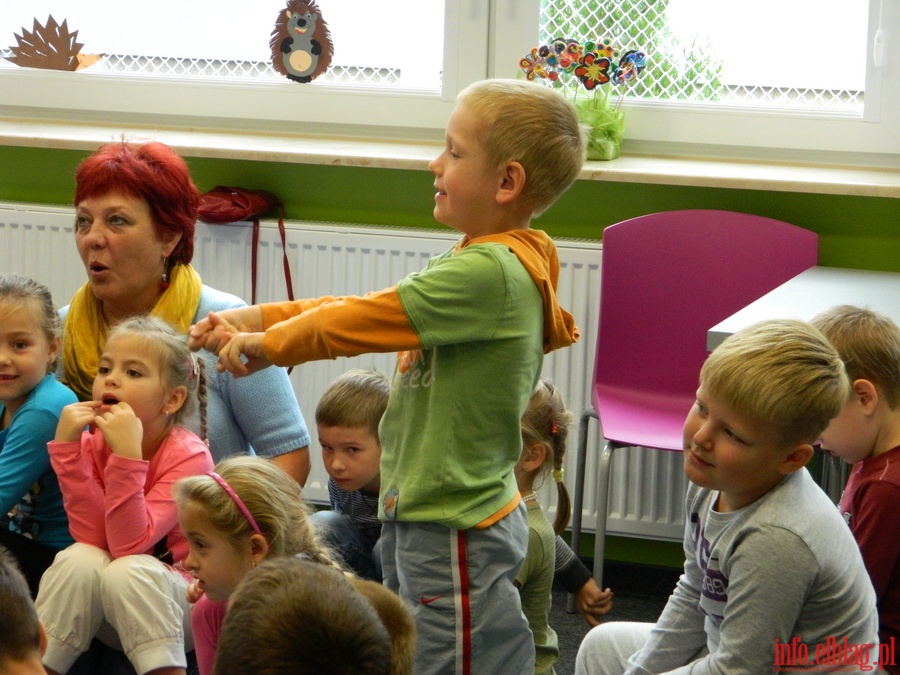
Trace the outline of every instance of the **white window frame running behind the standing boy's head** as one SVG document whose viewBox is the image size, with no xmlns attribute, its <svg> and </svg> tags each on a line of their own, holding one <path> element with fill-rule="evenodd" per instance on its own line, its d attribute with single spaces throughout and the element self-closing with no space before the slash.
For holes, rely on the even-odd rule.
<svg viewBox="0 0 900 675">
<path fill-rule="evenodd" d="M 900 155 L 900 3 L 869 0 L 866 106 L 835 112 L 626 99 L 626 151 L 740 155 L 897 166 Z M 0 69 L 13 92 L 0 115 L 198 131 L 441 138 L 456 94 L 484 77 L 515 77 L 537 44 L 540 0 L 446 0 L 441 91 L 291 82 L 211 82 L 112 73 Z M 880 30 L 880 33 L 879 33 Z M 883 38 L 882 64 L 873 44 Z M 650 64 L 652 67 L 652 54 Z"/>
</svg>

